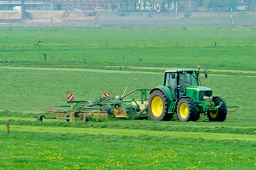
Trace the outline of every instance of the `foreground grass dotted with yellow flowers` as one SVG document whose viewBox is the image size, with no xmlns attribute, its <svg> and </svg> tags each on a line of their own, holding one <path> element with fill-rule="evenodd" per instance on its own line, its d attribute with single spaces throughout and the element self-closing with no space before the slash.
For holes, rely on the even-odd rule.
<svg viewBox="0 0 256 170">
<path fill-rule="evenodd" d="M 256 163 L 255 152 L 235 143 L 145 135 L 0 133 L 6 151 L 0 152 L 3 169 L 253 169 Z"/>
</svg>

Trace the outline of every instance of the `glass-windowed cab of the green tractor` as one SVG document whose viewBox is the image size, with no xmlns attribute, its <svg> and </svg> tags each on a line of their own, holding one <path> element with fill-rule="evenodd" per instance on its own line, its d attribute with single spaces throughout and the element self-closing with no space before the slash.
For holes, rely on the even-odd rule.
<svg viewBox="0 0 256 170">
<path fill-rule="evenodd" d="M 167 70 L 163 86 L 170 88 L 173 100 L 186 95 L 187 86 L 199 86 L 196 70 Z"/>
</svg>

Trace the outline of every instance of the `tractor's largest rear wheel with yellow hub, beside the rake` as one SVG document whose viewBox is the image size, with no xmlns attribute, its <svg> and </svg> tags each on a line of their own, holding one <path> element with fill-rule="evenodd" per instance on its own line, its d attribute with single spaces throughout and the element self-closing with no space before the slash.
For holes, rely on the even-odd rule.
<svg viewBox="0 0 256 170">
<path fill-rule="evenodd" d="M 168 99 L 160 90 L 154 90 L 149 99 L 148 110 L 150 118 L 155 121 L 171 120 L 168 114 Z"/>
</svg>

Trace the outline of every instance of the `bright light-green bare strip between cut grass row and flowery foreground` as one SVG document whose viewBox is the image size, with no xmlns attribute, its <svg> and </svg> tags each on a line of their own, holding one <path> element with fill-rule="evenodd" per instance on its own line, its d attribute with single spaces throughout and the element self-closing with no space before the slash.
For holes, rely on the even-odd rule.
<svg viewBox="0 0 256 170">
<path fill-rule="evenodd" d="M 0 131 L 6 129 L 5 125 L 0 125 Z M 74 134 L 90 134 L 90 135 L 118 135 L 118 136 L 139 136 L 149 135 L 154 137 L 171 136 L 173 138 L 202 138 L 208 140 L 241 140 L 255 141 L 255 135 L 244 134 L 227 134 L 227 133 L 198 133 L 198 132 L 178 132 L 178 131 L 147 131 L 141 129 L 94 129 L 94 128 L 71 128 L 71 127 L 53 127 L 53 126 L 10 126 L 10 131 L 27 131 L 27 132 L 46 132 L 46 133 L 74 133 Z"/>
</svg>

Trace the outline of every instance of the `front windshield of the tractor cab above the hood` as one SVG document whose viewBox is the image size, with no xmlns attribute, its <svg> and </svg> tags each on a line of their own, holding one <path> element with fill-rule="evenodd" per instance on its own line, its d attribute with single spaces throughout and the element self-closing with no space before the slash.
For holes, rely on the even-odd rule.
<svg viewBox="0 0 256 170">
<path fill-rule="evenodd" d="M 180 86 L 198 86 L 197 73 L 186 72 L 180 73 Z"/>
</svg>

